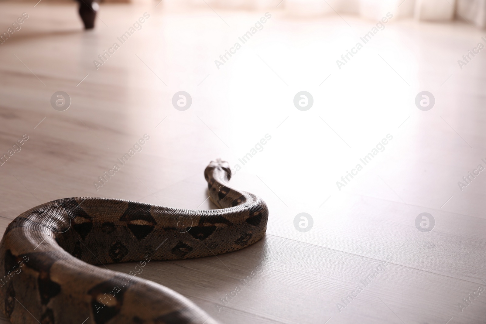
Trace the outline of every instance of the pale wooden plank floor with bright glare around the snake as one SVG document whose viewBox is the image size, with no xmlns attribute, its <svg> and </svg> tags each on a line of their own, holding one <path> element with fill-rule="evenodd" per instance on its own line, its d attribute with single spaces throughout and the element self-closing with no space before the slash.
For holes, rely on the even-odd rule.
<svg viewBox="0 0 486 324">
<path fill-rule="evenodd" d="M 269 205 L 266 237 L 218 257 L 151 262 L 142 277 L 221 323 L 485 323 L 486 292 L 467 308 L 463 299 L 486 288 L 486 172 L 462 190 L 458 182 L 486 167 L 486 53 L 457 62 L 485 44 L 484 32 L 391 19 L 339 69 L 375 22 L 268 10 L 263 29 L 218 68 L 265 11 L 102 5 L 97 28 L 84 32 L 74 2 L 35 2 L 0 3 L 1 33 L 29 15 L 0 45 L 0 154 L 29 137 L 0 167 L 0 231 L 72 196 L 210 208 L 203 170 L 221 157 L 241 167 L 231 184 Z M 69 94 L 66 111 L 51 106 L 56 91 Z M 186 111 L 172 105 L 178 91 L 191 95 Z M 299 91 L 312 94 L 311 109 L 296 109 Z M 431 110 L 417 108 L 421 91 L 434 95 Z M 142 151 L 97 191 L 144 134 Z M 345 183 L 347 171 L 355 175 Z M 294 225 L 302 212 L 313 220 L 307 232 Z M 424 212 L 432 231 L 416 226 Z"/>
</svg>

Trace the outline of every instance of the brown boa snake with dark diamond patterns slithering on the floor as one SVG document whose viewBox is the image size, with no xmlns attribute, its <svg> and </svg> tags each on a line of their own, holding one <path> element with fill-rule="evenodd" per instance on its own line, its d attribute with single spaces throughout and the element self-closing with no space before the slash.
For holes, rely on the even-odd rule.
<svg viewBox="0 0 486 324">
<path fill-rule="evenodd" d="M 265 234 L 267 205 L 226 187 L 226 162 L 212 161 L 204 175 L 222 209 L 66 198 L 22 213 L 0 243 L 3 313 L 13 324 L 216 324 L 187 298 L 136 275 L 151 260 L 236 251 Z M 130 274 L 94 266 L 127 261 L 139 261 Z"/>
</svg>

